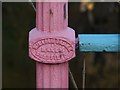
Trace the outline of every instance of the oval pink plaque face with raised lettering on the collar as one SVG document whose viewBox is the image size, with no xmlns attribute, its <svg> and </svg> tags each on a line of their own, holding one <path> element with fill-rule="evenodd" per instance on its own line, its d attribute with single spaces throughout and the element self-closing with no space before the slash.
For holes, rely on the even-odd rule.
<svg viewBox="0 0 120 90">
<path fill-rule="evenodd" d="M 43 63 L 61 63 L 74 55 L 73 44 L 65 38 L 44 38 L 30 44 L 30 57 Z"/>
</svg>

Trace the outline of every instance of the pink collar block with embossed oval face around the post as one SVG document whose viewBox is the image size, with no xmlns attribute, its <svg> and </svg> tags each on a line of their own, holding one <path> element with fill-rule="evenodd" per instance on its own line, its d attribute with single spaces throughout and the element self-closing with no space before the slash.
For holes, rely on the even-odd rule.
<svg viewBox="0 0 120 90">
<path fill-rule="evenodd" d="M 44 33 L 36 28 L 29 33 L 29 56 L 42 63 L 63 63 L 75 57 L 74 30 Z"/>
</svg>

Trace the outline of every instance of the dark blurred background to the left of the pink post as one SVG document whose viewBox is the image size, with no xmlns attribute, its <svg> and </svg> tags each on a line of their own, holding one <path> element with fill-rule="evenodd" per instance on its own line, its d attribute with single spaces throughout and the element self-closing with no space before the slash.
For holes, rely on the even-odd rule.
<svg viewBox="0 0 120 90">
<path fill-rule="evenodd" d="M 30 3 L 3 3 L 3 88 L 34 88 L 35 62 L 28 57 L 28 33 L 35 27 Z"/>
</svg>

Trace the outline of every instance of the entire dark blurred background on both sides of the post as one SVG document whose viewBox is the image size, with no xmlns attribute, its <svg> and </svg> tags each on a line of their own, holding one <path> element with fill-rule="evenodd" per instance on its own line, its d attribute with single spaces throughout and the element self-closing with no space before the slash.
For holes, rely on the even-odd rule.
<svg viewBox="0 0 120 90">
<path fill-rule="evenodd" d="M 89 4 L 94 5 L 92 10 L 80 2 L 69 3 L 69 26 L 76 37 L 80 33 L 120 33 L 119 3 Z M 35 88 L 35 62 L 28 57 L 28 33 L 35 27 L 36 13 L 28 2 L 4 2 L 2 10 L 2 87 Z M 76 55 L 69 66 L 79 88 L 83 60 L 86 60 L 86 88 L 120 88 L 119 53 L 83 53 L 76 49 Z M 71 79 L 70 87 L 74 88 Z"/>
</svg>

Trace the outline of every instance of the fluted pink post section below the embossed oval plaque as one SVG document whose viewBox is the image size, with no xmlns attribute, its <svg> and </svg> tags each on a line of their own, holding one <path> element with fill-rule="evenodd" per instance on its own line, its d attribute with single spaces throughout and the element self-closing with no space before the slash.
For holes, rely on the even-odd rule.
<svg viewBox="0 0 120 90">
<path fill-rule="evenodd" d="M 68 62 L 48 65 L 36 63 L 36 88 L 68 88 Z"/>
</svg>

